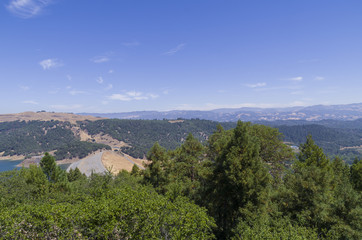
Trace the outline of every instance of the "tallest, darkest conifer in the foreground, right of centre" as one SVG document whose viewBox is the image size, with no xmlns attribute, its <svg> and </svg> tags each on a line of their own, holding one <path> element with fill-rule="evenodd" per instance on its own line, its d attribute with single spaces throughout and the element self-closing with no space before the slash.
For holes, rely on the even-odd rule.
<svg viewBox="0 0 362 240">
<path fill-rule="evenodd" d="M 263 212 L 268 200 L 270 175 L 251 134 L 251 124 L 239 121 L 231 140 L 216 159 L 209 209 L 219 227 L 218 237 L 229 238 L 239 219 Z"/>
</svg>

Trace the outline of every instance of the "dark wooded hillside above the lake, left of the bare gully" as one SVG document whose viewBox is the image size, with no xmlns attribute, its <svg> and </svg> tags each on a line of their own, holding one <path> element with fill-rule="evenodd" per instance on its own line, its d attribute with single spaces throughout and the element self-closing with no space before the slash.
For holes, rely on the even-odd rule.
<svg viewBox="0 0 362 240">
<path fill-rule="evenodd" d="M 38 155 L 58 150 L 56 159 L 83 158 L 99 149 L 111 149 L 104 144 L 81 142 L 70 130 L 69 122 L 14 121 L 0 123 L 0 152 L 4 156 Z"/>
</svg>

